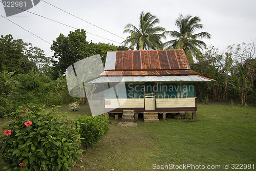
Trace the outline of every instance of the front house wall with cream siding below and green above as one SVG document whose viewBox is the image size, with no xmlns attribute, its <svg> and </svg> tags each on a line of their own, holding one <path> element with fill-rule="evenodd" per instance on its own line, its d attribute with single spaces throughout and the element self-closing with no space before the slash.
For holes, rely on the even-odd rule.
<svg viewBox="0 0 256 171">
<path fill-rule="evenodd" d="M 113 112 L 122 112 L 124 109 L 136 112 L 196 111 L 194 86 L 194 83 L 125 84 L 125 89 L 124 86 L 116 86 L 115 91 L 105 91 L 104 105 L 105 109 Z M 153 96 L 147 96 L 148 93 L 153 93 Z"/>
</svg>

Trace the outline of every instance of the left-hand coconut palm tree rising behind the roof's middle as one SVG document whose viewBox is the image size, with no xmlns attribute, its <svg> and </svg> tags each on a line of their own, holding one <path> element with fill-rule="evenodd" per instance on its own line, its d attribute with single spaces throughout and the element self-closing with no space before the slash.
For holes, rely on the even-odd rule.
<svg viewBox="0 0 256 171">
<path fill-rule="evenodd" d="M 165 38 L 164 28 L 156 26 L 159 19 L 151 13 L 141 12 L 139 29 L 132 24 L 127 24 L 124 27 L 123 33 L 131 34 L 123 41 L 125 45 L 130 45 L 130 48 L 136 47 L 137 50 L 160 49 L 162 47 L 161 38 Z"/>
</svg>

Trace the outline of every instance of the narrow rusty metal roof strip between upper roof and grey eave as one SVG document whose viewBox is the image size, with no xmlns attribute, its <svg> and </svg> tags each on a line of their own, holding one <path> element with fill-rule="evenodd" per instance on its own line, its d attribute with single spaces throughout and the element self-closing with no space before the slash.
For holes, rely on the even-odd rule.
<svg viewBox="0 0 256 171">
<path fill-rule="evenodd" d="M 197 75 L 193 70 L 142 70 L 142 71 L 104 71 L 102 76 L 165 76 L 165 75 Z"/>
</svg>

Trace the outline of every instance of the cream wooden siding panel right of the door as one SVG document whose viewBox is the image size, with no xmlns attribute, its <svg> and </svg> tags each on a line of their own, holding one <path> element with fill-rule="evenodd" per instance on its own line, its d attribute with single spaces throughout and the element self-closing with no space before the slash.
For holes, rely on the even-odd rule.
<svg viewBox="0 0 256 171">
<path fill-rule="evenodd" d="M 157 98 L 157 108 L 195 108 L 196 98 Z"/>
</svg>

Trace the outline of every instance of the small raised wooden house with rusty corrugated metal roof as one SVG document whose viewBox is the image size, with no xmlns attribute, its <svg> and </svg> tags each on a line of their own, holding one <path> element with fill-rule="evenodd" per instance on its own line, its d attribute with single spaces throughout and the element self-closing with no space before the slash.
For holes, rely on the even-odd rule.
<svg viewBox="0 0 256 171">
<path fill-rule="evenodd" d="M 191 70 L 183 50 L 109 51 L 100 75 L 92 83 L 125 84 L 125 90 L 116 86 L 114 94 L 105 92 L 104 109 L 133 110 L 135 120 L 142 113 L 145 122 L 165 119 L 168 113 L 191 113 L 196 119 L 195 82 L 214 81 Z"/>
</svg>

